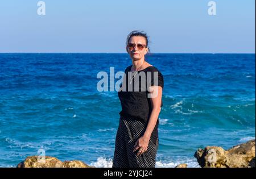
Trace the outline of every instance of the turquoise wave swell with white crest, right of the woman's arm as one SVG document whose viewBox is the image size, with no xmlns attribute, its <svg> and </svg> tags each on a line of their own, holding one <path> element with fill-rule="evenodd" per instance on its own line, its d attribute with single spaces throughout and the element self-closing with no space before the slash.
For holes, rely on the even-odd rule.
<svg viewBox="0 0 256 179">
<path fill-rule="evenodd" d="M 216 126 L 227 127 L 232 124 L 233 127 L 255 126 L 255 100 L 253 101 L 221 101 L 221 99 L 208 98 L 202 96 L 183 98 L 182 100 L 174 99 L 172 104 L 166 105 L 163 114 L 174 116 L 174 119 L 180 114 L 185 120 L 196 124 L 202 120 L 213 123 Z M 166 102 L 170 103 L 170 101 Z M 166 122 L 162 122 L 166 124 Z M 176 122 L 174 122 L 176 124 Z M 192 126 L 193 126 L 192 124 Z"/>
</svg>

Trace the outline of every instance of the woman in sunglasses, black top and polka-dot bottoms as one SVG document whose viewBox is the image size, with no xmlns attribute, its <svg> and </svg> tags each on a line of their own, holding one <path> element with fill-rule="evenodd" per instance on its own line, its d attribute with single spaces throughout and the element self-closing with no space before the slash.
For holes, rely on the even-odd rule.
<svg viewBox="0 0 256 179">
<path fill-rule="evenodd" d="M 124 81 L 118 91 L 122 111 L 115 138 L 113 168 L 152 168 L 159 144 L 158 116 L 162 107 L 163 76 L 145 61 L 149 49 L 148 36 L 144 32 L 133 31 L 127 36 L 126 51 L 133 64 L 125 69 Z M 147 82 L 146 90 L 142 90 L 143 77 Z M 131 82 L 134 85 L 141 83 L 139 91 L 134 90 L 134 86 L 131 91 L 127 90 Z"/>
</svg>

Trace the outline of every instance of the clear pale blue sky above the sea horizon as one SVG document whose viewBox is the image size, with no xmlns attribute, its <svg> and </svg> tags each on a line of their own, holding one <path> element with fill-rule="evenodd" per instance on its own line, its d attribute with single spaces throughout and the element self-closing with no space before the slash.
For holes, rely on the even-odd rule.
<svg viewBox="0 0 256 179">
<path fill-rule="evenodd" d="M 0 52 L 125 53 L 146 31 L 152 53 L 255 53 L 255 0 L 45 0 L 0 2 Z"/>
</svg>

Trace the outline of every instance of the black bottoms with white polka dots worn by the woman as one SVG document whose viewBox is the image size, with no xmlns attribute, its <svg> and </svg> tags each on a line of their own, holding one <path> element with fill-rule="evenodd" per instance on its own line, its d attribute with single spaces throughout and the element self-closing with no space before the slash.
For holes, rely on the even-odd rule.
<svg viewBox="0 0 256 179">
<path fill-rule="evenodd" d="M 151 138 L 147 151 L 137 156 L 139 149 L 133 152 L 136 141 L 146 131 L 146 125 L 136 119 L 120 117 L 117 135 L 115 138 L 115 151 L 113 168 L 154 168 L 155 157 L 158 151 L 159 140 L 154 143 Z"/>
</svg>

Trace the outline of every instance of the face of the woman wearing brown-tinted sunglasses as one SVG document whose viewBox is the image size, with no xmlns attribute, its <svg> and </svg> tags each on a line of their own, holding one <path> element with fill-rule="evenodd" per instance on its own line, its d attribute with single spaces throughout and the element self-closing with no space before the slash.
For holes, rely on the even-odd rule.
<svg viewBox="0 0 256 179">
<path fill-rule="evenodd" d="M 130 45 L 134 45 L 132 48 Z M 147 54 L 148 48 L 146 47 L 147 41 L 142 36 L 132 36 L 128 41 L 127 51 L 131 57 L 131 59 L 139 60 Z M 142 48 L 143 47 L 143 48 Z"/>
</svg>

